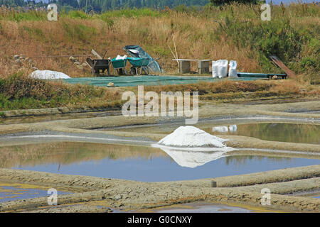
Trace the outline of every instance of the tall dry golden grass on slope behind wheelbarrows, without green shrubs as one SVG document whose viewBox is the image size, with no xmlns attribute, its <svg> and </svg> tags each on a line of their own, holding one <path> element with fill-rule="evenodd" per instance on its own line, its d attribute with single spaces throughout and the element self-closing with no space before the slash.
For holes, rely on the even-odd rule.
<svg viewBox="0 0 320 227">
<path fill-rule="evenodd" d="M 176 72 L 177 65 L 172 61 L 173 56 L 168 47 L 174 50 L 173 35 L 178 57 L 237 60 L 239 71 L 262 72 L 264 63 L 260 62 L 254 48 L 252 50 L 250 45 L 235 45 L 230 35 L 224 33 L 219 25 L 225 23 L 226 17 L 230 17 L 237 19 L 235 23 L 251 21 L 253 26 L 260 26 L 260 13 L 259 6 L 233 4 L 198 12 L 166 9 L 155 13 L 112 11 L 93 16 L 68 13 L 60 15 L 57 22 L 51 22 L 46 21 L 45 13 L 19 15 L 1 9 L 0 77 L 16 73 L 17 70 L 23 70 L 25 74 L 31 71 L 32 65 L 14 64 L 12 57 L 16 54 L 31 57 L 33 66 L 41 70 L 62 71 L 71 77 L 89 76 L 89 69 L 79 70 L 68 57 L 40 56 L 88 55 L 93 48 L 102 55 L 107 50 L 107 57 L 116 57 L 118 54 L 124 55 L 124 45 L 133 44 L 141 45 L 154 57 L 160 57 L 159 62 L 166 72 Z M 289 18 L 292 27 L 301 31 L 303 28 L 319 31 L 314 28 L 319 26 L 317 13 L 319 6 L 292 4 L 284 10 L 272 6 L 272 19 Z M 319 37 L 317 33 L 314 38 L 316 35 Z M 306 45 L 302 55 L 308 56 L 312 50 L 312 46 L 308 48 Z M 79 60 L 84 62 L 85 57 Z M 308 61 L 306 63 L 309 64 Z M 192 65 L 192 70 L 196 71 L 196 64 Z"/>
</svg>

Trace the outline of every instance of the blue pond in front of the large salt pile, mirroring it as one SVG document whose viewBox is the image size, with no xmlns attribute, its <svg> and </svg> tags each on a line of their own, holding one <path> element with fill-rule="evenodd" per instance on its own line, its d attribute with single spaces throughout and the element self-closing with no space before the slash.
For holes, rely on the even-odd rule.
<svg viewBox="0 0 320 227">
<path fill-rule="evenodd" d="M 223 177 L 319 164 L 320 160 L 304 158 L 231 155 L 216 159 L 214 154 L 210 157 L 210 153 L 199 152 L 173 155 L 159 148 L 99 143 L 41 143 L 0 148 L 0 168 L 142 182 Z"/>
</svg>

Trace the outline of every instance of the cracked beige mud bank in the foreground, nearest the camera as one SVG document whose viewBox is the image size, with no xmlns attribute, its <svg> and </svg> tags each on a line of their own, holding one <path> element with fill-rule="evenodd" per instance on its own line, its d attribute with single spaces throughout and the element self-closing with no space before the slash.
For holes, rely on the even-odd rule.
<svg viewBox="0 0 320 227">
<path fill-rule="evenodd" d="M 297 190 L 319 189 L 319 177 L 320 165 L 215 179 L 153 183 L 0 169 L 0 180 L 7 182 L 82 189 L 83 192 L 58 196 L 58 205 L 73 210 L 70 206 L 78 204 L 85 211 L 109 211 L 105 210 L 106 207 L 132 211 L 193 201 L 210 201 L 237 204 L 239 207 L 250 205 L 267 210 L 319 212 L 319 199 L 282 195 Z M 212 180 L 218 182 L 218 187 L 210 187 Z M 239 185 L 241 187 L 235 187 Z M 293 185 L 297 187 L 292 187 Z M 272 204 L 267 207 L 260 204 L 260 190 L 265 187 L 270 187 L 272 193 Z M 92 202 L 100 202 L 105 206 L 99 210 L 97 206 L 90 204 Z M 59 211 L 58 207 L 48 207 L 46 197 L 2 203 L 0 211 L 37 211 L 39 207 L 46 211 Z"/>
</svg>

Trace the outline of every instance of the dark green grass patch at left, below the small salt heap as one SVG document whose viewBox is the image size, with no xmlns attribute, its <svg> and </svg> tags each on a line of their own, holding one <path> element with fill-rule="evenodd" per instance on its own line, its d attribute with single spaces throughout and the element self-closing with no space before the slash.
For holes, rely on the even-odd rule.
<svg viewBox="0 0 320 227">
<path fill-rule="evenodd" d="M 0 79 L 0 110 L 58 106 L 119 106 L 119 92 L 87 85 L 46 82 L 14 74 Z M 100 101 L 99 101 L 100 100 Z"/>
</svg>

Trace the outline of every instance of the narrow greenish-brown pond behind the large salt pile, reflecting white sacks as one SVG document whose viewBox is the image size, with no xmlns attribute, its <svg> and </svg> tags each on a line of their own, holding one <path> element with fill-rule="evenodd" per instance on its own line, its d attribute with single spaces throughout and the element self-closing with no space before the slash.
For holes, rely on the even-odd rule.
<svg viewBox="0 0 320 227">
<path fill-rule="evenodd" d="M 157 126 L 119 127 L 117 131 L 140 133 L 172 133 L 180 125 L 174 123 Z M 213 135 L 244 135 L 262 140 L 290 143 L 320 144 L 320 125 L 303 123 L 240 123 L 216 125 L 198 123 L 197 128 Z M 114 130 L 114 129 L 112 129 Z"/>
</svg>

